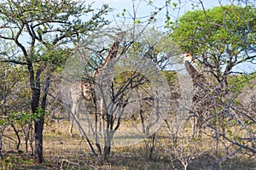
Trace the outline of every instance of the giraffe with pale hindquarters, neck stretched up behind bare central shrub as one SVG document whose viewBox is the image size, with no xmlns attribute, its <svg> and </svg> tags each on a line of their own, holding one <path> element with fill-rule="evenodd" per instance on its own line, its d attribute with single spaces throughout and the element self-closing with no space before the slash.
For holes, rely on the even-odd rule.
<svg viewBox="0 0 256 170">
<path fill-rule="evenodd" d="M 118 50 L 119 50 L 119 44 L 120 42 L 123 40 L 123 38 L 125 37 L 124 32 L 120 32 L 119 34 L 117 34 L 117 37 L 115 38 L 115 41 L 113 42 L 113 45 L 111 46 L 111 48 L 109 48 L 108 51 L 108 56 L 107 58 L 104 60 L 104 62 L 102 63 L 102 65 L 98 66 L 96 68 L 96 70 L 91 74 L 90 76 L 90 81 L 77 81 L 74 82 L 71 85 L 70 90 L 70 98 L 72 100 L 72 106 L 71 106 L 71 114 L 70 114 L 70 126 L 69 126 L 69 134 L 71 136 L 73 136 L 73 121 L 74 121 L 74 116 L 77 119 L 77 122 L 79 122 L 79 105 L 81 104 L 82 100 L 87 100 L 87 101 L 93 101 L 96 104 L 96 82 L 95 79 L 96 77 L 99 77 L 101 71 L 103 68 L 106 68 L 106 66 L 108 65 L 108 63 L 114 59 L 117 54 L 118 54 Z M 101 104 L 100 104 L 100 118 L 101 118 L 101 122 L 100 122 L 100 130 L 102 131 L 103 127 L 104 127 L 104 111 L 103 111 L 103 101 L 102 98 L 101 100 Z M 79 127 L 79 133 L 80 136 L 82 135 L 81 132 L 81 127 Z"/>
</svg>

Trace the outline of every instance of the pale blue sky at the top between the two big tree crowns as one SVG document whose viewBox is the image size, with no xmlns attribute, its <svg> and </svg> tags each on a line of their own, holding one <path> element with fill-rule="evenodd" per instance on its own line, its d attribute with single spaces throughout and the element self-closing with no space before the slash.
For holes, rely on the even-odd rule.
<svg viewBox="0 0 256 170">
<path fill-rule="evenodd" d="M 155 8 L 163 8 L 165 6 L 166 0 L 151 0 L 153 3 L 149 5 L 149 0 L 87 0 L 86 3 L 93 3 L 92 8 L 101 8 L 104 3 L 107 3 L 109 7 L 113 8 L 113 12 L 106 16 L 106 19 L 112 21 L 112 25 L 115 23 L 123 23 L 124 17 L 118 14 L 122 14 L 125 8 L 125 24 L 133 23 L 131 20 L 131 15 L 134 14 L 134 9 L 136 10 L 137 19 L 143 21 L 147 21 L 150 15 L 155 11 Z M 194 5 L 198 5 L 201 8 L 201 3 L 199 0 L 171 0 L 172 3 L 177 3 L 180 1 L 180 6 L 177 5 L 177 8 L 168 8 L 169 16 L 172 21 L 177 20 L 182 14 L 187 11 L 193 10 L 192 2 Z M 215 6 L 219 6 L 219 1 L 221 1 L 222 5 L 229 4 L 229 1 L 232 0 L 203 0 L 204 8 L 212 8 Z M 177 3 L 179 4 L 179 3 Z M 178 10 L 180 7 L 180 10 Z M 157 19 L 157 22 L 154 22 L 155 28 L 164 28 L 166 26 L 166 8 L 160 10 L 160 12 L 154 16 Z M 115 22 L 116 21 L 116 22 Z M 153 26 L 153 25 L 152 25 Z M 160 30 L 163 31 L 163 30 Z"/>
</svg>

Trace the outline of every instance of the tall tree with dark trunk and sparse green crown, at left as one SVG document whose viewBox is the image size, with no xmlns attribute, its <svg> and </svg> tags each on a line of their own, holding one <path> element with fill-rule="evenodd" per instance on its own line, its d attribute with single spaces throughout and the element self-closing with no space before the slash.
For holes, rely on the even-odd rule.
<svg viewBox="0 0 256 170">
<path fill-rule="evenodd" d="M 15 42 L 19 48 L 12 56 L 3 55 L 8 51 L 3 52 L 0 59 L 27 67 L 31 111 L 38 115 L 34 121 L 34 155 L 35 161 L 42 163 L 44 113 L 51 73 L 65 62 L 81 37 L 89 37 L 108 24 L 103 15 L 110 8 L 103 5 L 95 10 L 83 2 L 66 0 L 5 0 L 0 8 L 0 38 L 6 43 Z"/>
</svg>

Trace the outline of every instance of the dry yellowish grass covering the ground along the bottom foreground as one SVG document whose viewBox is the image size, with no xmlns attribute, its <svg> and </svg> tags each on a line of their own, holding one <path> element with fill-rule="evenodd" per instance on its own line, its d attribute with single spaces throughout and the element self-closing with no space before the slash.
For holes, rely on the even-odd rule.
<svg viewBox="0 0 256 170">
<path fill-rule="evenodd" d="M 11 130 L 7 131 L 9 134 Z M 6 132 L 6 133 L 7 133 Z M 148 141 L 139 144 L 113 148 L 108 161 L 102 157 L 92 156 L 88 144 L 78 135 L 68 135 L 68 122 L 48 122 L 44 127 L 44 163 L 33 163 L 30 154 L 18 154 L 10 151 L 14 145 L 3 148 L 4 159 L 0 169 L 183 169 L 183 159 L 190 159 L 188 169 L 207 169 L 212 162 L 225 154 L 223 147 L 219 147 L 218 156 L 214 156 L 215 145 L 206 135 L 202 139 L 189 139 L 190 132 L 183 130 L 177 141 L 172 144 L 170 135 L 162 127 L 158 133 L 158 142 L 151 159 L 148 159 Z M 13 134 L 12 134 L 13 135 Z M 4 139 L 3 139 L 4 140 Z M 189 145 L 188 145 L 189 144 Z M 21 150 L 24 150 L 22 144 Z M 236 156 L 222 161 L 217 165 L 223 169 L 253 169 L 256 167 L 256 157 L 239 152 Z"/>
</svg>

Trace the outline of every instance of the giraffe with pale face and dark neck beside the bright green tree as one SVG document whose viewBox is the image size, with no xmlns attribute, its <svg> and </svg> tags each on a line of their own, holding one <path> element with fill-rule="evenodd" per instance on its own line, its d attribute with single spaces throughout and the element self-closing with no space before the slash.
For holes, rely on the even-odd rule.
<svg viewBox="0 0 256 170">
<path fill-rule="evenodd" d="M 193 109 L 192 115 L 194 117 L 193 121 L 193 134 L 195 135 L 195 128 L 199 127 L 199 135 L 201 134 L 201 128 L 204 122 L 204 107 L 207 105 L 207 97 L 204 89 L 207 86 L 206 77 L 203 74 L 196 71 L 192 63 L 195 62 L 195 59 L 191 54 L 183 54 L 183 62 L 185 69 L 189 72 L 189 76 L 192 78 L 193 87 L 195 94 L 193 95 Z"/>
</svg>

